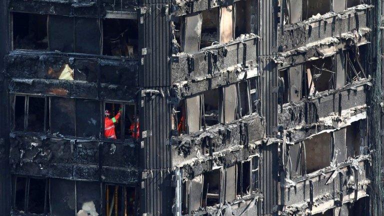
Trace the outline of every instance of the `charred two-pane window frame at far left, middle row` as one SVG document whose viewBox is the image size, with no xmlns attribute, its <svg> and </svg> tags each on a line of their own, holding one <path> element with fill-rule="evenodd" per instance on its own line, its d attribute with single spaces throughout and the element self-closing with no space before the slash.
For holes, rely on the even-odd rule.
<svg viewBox="0 0 384 216">
<path fill-rule="evenodd" d="M 15 102 L 16 102 L 16 96 L 24 96 L 24 125 L 23 130 L 15 130 Z M 43 131 L 38 132 L 32 132 L 28 131 L 28 112 L 29 112 L 29 97 L 39 97 L 44 98 L 44 128 Z M 50 126 L 50 112 L 49 112 L 49 122 L 47 122 L 47 113 L 48 109 L 50 109 L 50 97 L 46 95 L 41 94 L 25 94 L 25 93 L 11 93 L 10 94 L 10 102 L 12 107 L 12 113 L 11 113 L 11 131 L 13 132 L 28 132 L 28 133 L 45 133 L 47 131 L 47 128 Z M 48 107 L 47 107 L 48 105 Z"/>
</svg>

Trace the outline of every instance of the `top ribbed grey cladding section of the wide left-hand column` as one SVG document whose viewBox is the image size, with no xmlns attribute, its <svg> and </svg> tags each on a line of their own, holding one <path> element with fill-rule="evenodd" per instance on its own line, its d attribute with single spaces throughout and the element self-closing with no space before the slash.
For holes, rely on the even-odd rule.
<svg viewBox="0 0 384 216">
<path fill-rule="evenodd" d="M 150 11 L 149 11 L 150 10 Z M 140 45 L 147 53 L 141 55 L 143 64 L 140 66 L 141 86 L 170 85 L 170 22 L 167 20 L 165 4 L 151 4 L 143 16 L 143 23 L 139 24 Z"/>
</svg>

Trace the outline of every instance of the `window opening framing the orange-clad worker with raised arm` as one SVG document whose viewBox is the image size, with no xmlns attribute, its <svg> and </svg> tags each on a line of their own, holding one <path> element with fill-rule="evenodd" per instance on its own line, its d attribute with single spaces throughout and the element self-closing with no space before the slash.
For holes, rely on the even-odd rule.
<svg viewBox="0 0 384 216">
<path fill-rule="evenodd" d="M 122 104 L 109 103 L 104 105 L 104 137 L 120 139 L 123 126 L 121 120 Z"/>
</svg>

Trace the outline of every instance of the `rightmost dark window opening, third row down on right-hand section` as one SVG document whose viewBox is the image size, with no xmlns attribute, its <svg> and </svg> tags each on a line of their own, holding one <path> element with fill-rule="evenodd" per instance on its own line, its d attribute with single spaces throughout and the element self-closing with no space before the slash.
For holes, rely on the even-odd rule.
<svg viewBox="0 0 384 216">
<path fill-rule="evenodd" d="M 365 146 L 365 121 L 355 121 L 349 126 L 346 126 L 346 158 L 356 157 L 361 153 L 364 153 Z"/>
</svg>

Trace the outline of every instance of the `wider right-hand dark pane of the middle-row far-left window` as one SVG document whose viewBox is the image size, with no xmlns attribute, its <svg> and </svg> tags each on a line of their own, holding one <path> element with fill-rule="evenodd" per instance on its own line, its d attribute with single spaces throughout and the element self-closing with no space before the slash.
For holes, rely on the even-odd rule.
<svg viewBox="0 0 384 216">
<path fill-rule="evenodd" d="M 45 98 L 28 96 L 28 126 L 30 132 L 44 131 Z"/>
</svg>

